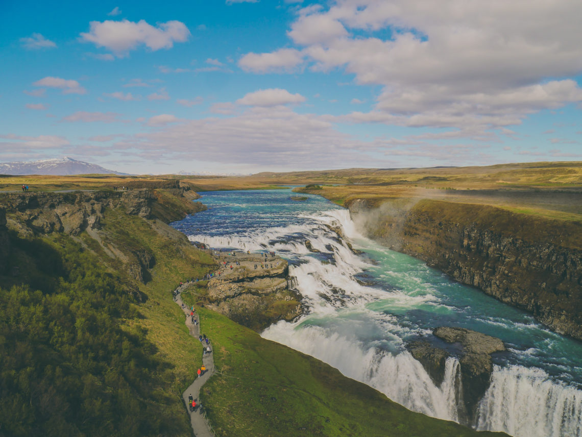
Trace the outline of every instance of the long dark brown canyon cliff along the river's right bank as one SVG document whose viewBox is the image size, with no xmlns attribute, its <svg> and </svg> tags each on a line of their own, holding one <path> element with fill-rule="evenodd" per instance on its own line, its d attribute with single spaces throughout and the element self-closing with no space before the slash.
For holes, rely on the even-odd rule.
<svg viewBox="0 0 582 437">
<path fill-rule="evenodd" d="M 487 205 L 347 205 L 368 236 L 582 340 L 582 225 Z"/>
</svg>

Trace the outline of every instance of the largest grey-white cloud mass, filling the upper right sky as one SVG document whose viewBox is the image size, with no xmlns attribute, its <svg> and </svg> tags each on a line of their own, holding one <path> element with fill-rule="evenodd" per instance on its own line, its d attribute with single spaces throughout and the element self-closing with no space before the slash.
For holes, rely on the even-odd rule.
<svg viewBox="0 0 582 437">
<path fill-rule="evenodd" d="M 582 101 L 579 84 L 567 79 L 582 72 L 579 11 L 572 0 L 335 0 L 299 10 L 288 35 L 300 49 L 250 53 L 239 66 L 342 68 L 356 83 L 383 87 L 371 112 L 345 121 L 486 137 L 530 113 Z"/>
</svg>

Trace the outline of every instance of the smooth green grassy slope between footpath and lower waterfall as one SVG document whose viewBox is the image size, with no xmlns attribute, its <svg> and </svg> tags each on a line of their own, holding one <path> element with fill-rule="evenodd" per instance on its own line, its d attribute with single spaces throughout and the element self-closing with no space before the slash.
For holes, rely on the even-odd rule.
<svg viewBox="0 0 582 437">
<path fill-rule="evenodd" d="M 220 314 L 202 309 L 200 319 L 214 345 L 217 369 L 201 400 L 219 436 L 505 435 L 413 413 Z"/>
</svg>

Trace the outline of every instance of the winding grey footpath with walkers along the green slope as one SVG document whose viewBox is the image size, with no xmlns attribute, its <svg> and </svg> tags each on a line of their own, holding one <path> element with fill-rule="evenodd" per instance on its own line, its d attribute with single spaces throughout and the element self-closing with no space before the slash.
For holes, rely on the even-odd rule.
<svg viewBox="0 0 582 437">
<path fill-rule="evenodd" d="M 184 314 L 186 314 L 186 326 L 190 331 L 190 335 L 198 339 L 198 337 L 200 336 L 200 323 L 198 323 L 197 325 L 194 325 L 192 323 L 190 318 L 190 309 L 186 307 L 186 305 L 184 305 L 182 297 L 180 297 L 180 292 L 182 292 L 184 287 L 186 287 L 187 285 L 188 284 L 186 283 L 178 287 L 178 295 L 175 297 L 174 301 L 178 305 L 180 305 L 180 307 L 184 311 Z M 197 318 L 198 321 L 200 321 L 197 314 L 195 315 L 195 318 Z M 212 344 L 210 344 L 210 347 L 212 349 Z M 212 432 L 212 429 L 208 424 L 208 421 L 202 414 L 200 408 L 197 408 L 196 411 L 190 411 L 190 408 L 188 406 L 189 395 L 191 395 L 194 398 L 194 400 L 196 400 L 196 403 L 198 404 L 200 403 L 199 396 L 200 388 L 204 385 L 206 381 L 208 381 L 208 378 L 210 378 L 210 376 L 214 374 L 214 358 L 212 358 L 212 353 L 204 354 L 202 362 L 206 366 L 206 372 L 204 372 L 204 375 L 201 375 L 198 378 L 196 378 L 194 382 L 191 383 L 191 385 L 184 391 L 184 393 L 182 393 L 182 399 L 184 400 L 184 404 L 186 405 L 188 413 L 190 414 L 190 424 L 192 425 L 194 435 L 196 437 L 214 437 L 214 432 Z"/>
</svg>

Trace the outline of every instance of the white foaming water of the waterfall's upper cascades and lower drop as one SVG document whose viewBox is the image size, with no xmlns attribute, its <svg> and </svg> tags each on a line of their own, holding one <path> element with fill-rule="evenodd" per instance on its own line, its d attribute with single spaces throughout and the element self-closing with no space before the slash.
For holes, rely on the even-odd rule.
<svg viewBox="0 0 582 437">
<path fill-rule="evenodd" d="M 364 241 L 348 211 L 335 209 L 304 218 L 304 223 L 289 226 L 189 238 L 210 247 L 274 250 L 290 260 L 289 286 L 301 293 L 310 312 L 299 321 L 270 326 L 263 337 L 318 358 L 410 410 L 458 422 L 462 400 L 456 358 L 448 358 L 443 381 L 435 385 L 404 347 L 407 338 L 426 335 L 430 329 L 403 323 L 398 312 L 370 309 L 387 299 L 404 310 L 423 308 L 437 298 L 357 280 L 374 266 L 328 227 L 340 227 L 348 238 Z M 317 253 L 308 250 L 306 240 Z M 449 311 L 445 304 L 439 308 Z M 582 391 L 539 368 L 495 365 L 475 427 L 516 437 L 582 437 Z"/>
</svg>

